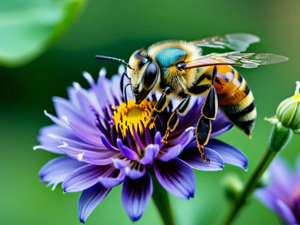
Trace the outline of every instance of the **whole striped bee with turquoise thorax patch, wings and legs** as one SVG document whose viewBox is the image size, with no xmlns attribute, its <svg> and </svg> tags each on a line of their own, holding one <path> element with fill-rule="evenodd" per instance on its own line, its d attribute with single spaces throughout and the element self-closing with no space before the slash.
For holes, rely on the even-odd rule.
<svg viewBox="0 0 300 225">
<path fill-rule="evenodd" d="M 255 68 L 288 59 L 274 54 L 241 53 L 250 44 L 259 41 L 257 36 L 243 33 L 190 42 L 168 40 L 153 44 L 146 50 L 135 51 L 128 63 L 101 55 L 96 55 L 96 58 L 120 61 L 127 66 L 127 73 L 123 74 L 122 81 L 124 76 L 129 78 L 125 88 L 131 85 L 136 104 L 140 104 L 150 91 L 161 92 L 147 124 L 148 128 L 158 113 L 168 105 L 170 97 L 182 100 L 167 122 L 162 144 L 167 143 L 168 136 L 178 125 L 178 114 L 184 115 L 189 110 L 191 96 L 206 95 L 201 116 L 199 112 L 195 135 L 201 157 L 210 162 L 203 149 L 208 143 L 211 120 L 216 118 L 218 108 L 250 138 L 255 125 L 256 107 L 253 94 L 245 79 L 232 66 Z M 233 51 L 202 55 L 202 47 Z M 126 96 L 125 99 L 127 101 Z"/>
</svg>

